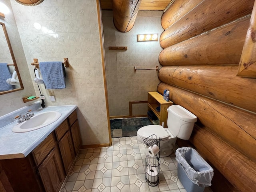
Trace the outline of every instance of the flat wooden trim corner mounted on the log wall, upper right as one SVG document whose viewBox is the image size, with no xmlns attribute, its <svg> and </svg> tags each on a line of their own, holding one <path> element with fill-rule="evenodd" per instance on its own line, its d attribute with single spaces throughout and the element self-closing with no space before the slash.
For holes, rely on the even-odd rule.
<svg viewBox="0 0 256 192">
<path fill-rule="evenodd" d="M 237 76 L 256 78 L 256 0 L 247 30 Z"/>
</svg>

